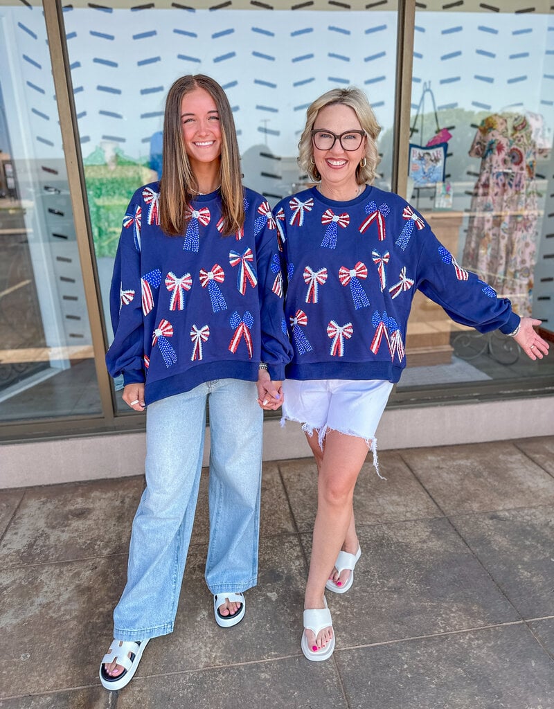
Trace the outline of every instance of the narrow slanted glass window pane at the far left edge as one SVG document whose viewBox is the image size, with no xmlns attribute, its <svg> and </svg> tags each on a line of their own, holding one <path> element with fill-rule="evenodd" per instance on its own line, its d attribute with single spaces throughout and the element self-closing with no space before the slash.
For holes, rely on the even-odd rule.
<svg viewBox="0 0 554 709">
<path fill-rule="evenodd" d="M 42 6 L 0 3 L 0 421 L 101 411 Z"/>
</svg>

